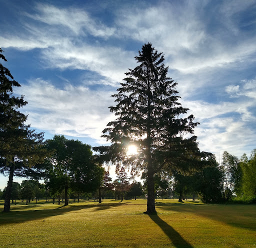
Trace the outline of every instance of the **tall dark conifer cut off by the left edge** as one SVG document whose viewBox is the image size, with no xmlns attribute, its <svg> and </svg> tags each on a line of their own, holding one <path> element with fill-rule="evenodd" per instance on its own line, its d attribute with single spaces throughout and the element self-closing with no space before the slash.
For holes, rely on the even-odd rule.
<svg viewBox="0 0 256 248">
<path fill-rule="evenodd" d="M 7 61 L 0 48 L 0 58 Z M 10 210 L 13 176 L 24 176 L 26 167 L 40 162 L 45 156 L 42 149 L 43 133 L 35 133 L 25 124 L 27 116 L 17 109 L 26 105 L 23 96 L 12 94 L 12 87 L 20 84 L 0 63 L 0 173 L 8 175 L 4 212 Z"/>
</svg>

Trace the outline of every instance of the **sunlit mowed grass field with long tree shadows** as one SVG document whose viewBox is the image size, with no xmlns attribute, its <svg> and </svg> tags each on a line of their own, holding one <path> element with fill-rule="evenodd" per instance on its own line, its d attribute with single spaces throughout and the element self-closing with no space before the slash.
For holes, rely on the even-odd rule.
<svg viewBox="0 0 256 248">
<path fill-rule="evenodd" d="M 0 212 L 0 247 L 256 247 L 256 205 L 156 200 L 41 200 Z M 3 201 L 0 201 L 0 210 Z"/>
</svg>

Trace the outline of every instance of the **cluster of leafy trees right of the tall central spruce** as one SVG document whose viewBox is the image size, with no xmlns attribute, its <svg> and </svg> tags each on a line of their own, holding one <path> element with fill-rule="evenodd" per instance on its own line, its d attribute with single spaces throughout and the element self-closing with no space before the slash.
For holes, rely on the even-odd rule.
<svg viewBox="0 0 256 248">
<path fill-rule="evenodd" d="M 243 154 L 240 159 L 227 151 L 222 154 L 222 162 L 213 157 L 210 166 L 190 174 L 173 173 L 173 189 L 179 193 L 179 201 L 184 195 L 198 195 L 203 202 L 219 203 L 238 201 L 256 203 L 256 149 L 249 159 Z"/>
</svg>

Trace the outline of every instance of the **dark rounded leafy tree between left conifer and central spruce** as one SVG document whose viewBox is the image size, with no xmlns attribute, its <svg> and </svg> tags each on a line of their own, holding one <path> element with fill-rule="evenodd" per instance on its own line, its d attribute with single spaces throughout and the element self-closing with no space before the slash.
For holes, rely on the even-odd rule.
<svg viewBox="0 0 256 248">
<path fill-rule="evenodd" d="M 52 165 L 46 183 L 55 193 L 64 190 L 64 205 L 68 205 L 68 188 L 90 192 L 98 188 L 103 168 L 93 161 L 90 145 L 78 140 L 68 140 L 63 135 L 54 135 L 46 140 L 46 147 L 53 151 L 48 157 Z"/>
</svg>

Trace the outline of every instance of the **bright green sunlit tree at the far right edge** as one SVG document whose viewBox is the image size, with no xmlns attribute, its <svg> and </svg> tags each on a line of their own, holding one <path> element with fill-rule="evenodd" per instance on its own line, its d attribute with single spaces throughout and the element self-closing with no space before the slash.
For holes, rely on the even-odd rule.
<svg viewBox="0 0 256 248">
<path fill-rule="evenodd" d="M 242 155 L 241 169 L 243 194 L 256 197 L 256 149 L 251 151 L 249 159 Z"/>
</svg>

